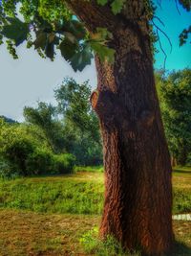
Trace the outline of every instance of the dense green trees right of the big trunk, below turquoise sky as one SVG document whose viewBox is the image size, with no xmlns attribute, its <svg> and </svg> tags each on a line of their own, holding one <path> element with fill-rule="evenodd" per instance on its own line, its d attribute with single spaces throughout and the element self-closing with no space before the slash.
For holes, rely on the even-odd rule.
<svg viewBox="0 0 191 256">
<path fill-rule="evenodd" d="M 173 158 L 185 165 L 191 152 L 191 69 L 157 75 L 165 133 Z"/>
</svg>

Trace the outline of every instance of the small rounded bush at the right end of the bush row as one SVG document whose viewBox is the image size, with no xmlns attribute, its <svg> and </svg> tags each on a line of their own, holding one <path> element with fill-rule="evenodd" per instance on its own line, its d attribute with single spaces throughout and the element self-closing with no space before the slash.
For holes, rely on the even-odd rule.
<svg viewBox="0 0 191 256">
<path fill-rule="evenodd" d="M 65 175 L 74 171 L 75 157 L 71 153 L 53 155 L 53 171 L 55 174 Z"/>
</svg>

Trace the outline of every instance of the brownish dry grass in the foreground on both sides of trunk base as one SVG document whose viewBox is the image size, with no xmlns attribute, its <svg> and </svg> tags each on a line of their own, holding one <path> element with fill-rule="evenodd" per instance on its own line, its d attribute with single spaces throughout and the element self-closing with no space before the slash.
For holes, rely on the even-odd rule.
<svg viewBox="0 0 191 256">
<path fill-rule="evenodd" d="M 0 210 L 0 220 L 1 256 L 83 256 L 86 254 L 79 238 L 97 226 L 100 217 Z M 175 255 L 188 256 L 191 221 L 174 221 L 174 230 L 176 238 L 185 244 L 178 246 L 184 254 Z"/>
</svg>

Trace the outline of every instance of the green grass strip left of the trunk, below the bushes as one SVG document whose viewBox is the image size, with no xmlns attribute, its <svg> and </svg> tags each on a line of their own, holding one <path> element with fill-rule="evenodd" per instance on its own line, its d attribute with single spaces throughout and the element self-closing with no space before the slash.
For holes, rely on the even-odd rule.
<svg viewBox="0 0 191 256">
<path fill-rule="evenodd" d="M 41 213 L 100 214 L 103 184 L 77 175 L 20 178 L 0 182 L 0 208 Z"/>
</svg>

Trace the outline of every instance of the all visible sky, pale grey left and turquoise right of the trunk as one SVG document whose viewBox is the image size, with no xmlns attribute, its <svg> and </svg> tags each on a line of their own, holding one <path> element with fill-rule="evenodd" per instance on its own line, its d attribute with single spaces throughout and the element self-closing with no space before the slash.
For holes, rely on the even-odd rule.
<svg viewBox="0 0 191 256">
<path fill-rule="evenodd" d="M 191 23 L 191 15 L 179 6 L 176 9 L 174 0 L 158 1 L 156 15 L 165 24 L 163 27 L 158 19 L 154 22 L 165 32 L 172 42 L 172 51 L 166 37 L 159 33 L 162 48 L 167 54 L 165 68 L 179 70 L 191 67 L 191 47 L 187 43 L 179 47 L 179 35 L 183 28 Z M 159 54 L 155 56 L 155 68 L 164 66 L 164 56 L 156 44 Z M 66 77 L 73 77 L 75 81 L 90 80 L 93 88 L 96 87 L 96 67 L 92 64 L 82 72 L 74 72 L 72 67 L 59 55 L 54 61 L 40 58 L 32 49 L 25 45 L 17 48 L 19 59 L 12 59 L 4 45 L 0 46 L 0 115 L 14 120 L 24 120 L 22 112 L 25 105 L 36 106 L 37 101 L 54 104 L 53 89 Z"/>
</svg>

